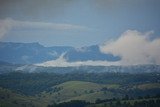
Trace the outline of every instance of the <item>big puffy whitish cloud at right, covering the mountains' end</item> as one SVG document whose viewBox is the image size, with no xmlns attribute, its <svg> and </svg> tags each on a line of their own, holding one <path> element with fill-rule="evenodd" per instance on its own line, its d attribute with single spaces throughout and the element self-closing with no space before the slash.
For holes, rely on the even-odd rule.
<svg viewBox="0 0 160 107">
<path fill-rule="evenodd" d="M 121 56 L 121 65 L 160 64 L 160 38 L 151 39 L 151 32 L 124 32 L 115 41 L 100 46 L 103 53 Z"/>
</svg>

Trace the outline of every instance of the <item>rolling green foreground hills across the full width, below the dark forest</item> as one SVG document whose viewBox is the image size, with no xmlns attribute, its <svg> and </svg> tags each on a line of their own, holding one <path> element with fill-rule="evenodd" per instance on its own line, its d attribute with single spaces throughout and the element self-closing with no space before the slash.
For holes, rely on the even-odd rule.
<svg viewBox="0 0 160 107">
<path fill-rule="evenodd" d="M 17 91 L 0 88 L 0 107 L 47 107 L 54 103 L 84 100 L 95 103 L 98 100 L 130 98 L 160 94 L 160 83 L 100 84 L 86 81 L 67 81 L 30 96 Z"/>
</svg>

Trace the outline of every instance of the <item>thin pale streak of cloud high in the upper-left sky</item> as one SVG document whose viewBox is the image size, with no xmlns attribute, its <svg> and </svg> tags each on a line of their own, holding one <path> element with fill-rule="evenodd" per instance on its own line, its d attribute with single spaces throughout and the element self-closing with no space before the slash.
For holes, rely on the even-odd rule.
<svg viewBox="0 0 160 107">
<path fill-rule="evenodd" d="M 18 21 L 11 18 L 0 19 L 0 38 L 2 38 L 9 30 L 90 30 L 90 28 L 80 25 L 64 24 L 64 23 L 47 23 L 47 22 L 31 22 Z"/>
</svg>

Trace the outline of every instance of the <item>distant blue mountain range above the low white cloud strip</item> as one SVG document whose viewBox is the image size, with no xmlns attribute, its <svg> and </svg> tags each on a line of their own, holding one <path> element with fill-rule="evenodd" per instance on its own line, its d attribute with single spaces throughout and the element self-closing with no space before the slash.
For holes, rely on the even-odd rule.
<svg viewBox="0 0 160 107">
<path fill-rule="evenodd" d="M 35 64 L 58 59 L 62 54 L 68 62 L 118 61 L 121 58 L 100 52 L 98 45 L 74 48 L 71 46 L 44 47 L 39 43 L 0 42 L 0 60 L 14 64 Z"/>
</svg>

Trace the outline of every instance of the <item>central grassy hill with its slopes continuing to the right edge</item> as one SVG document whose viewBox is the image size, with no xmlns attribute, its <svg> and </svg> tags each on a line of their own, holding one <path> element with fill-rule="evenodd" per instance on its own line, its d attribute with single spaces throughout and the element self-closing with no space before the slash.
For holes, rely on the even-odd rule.
<svg viewBox="0 0 160 107">
<path fill-rule="evenodd" d="M 68 81 L 52 87 L 51 90 L 43 92 L 41 96 L 43 96 L 42 100 L 48 101 L 49 103 L 68 102 L 71 100 L 85 100 L 93 103 L 97 99 L 122 98 L 130 93 L 134 93 L 137 97 L 139 95 L 148 95 L 148 92 L 153 95 L 154 91 L 155 93 L 160 93 L 159 83 L 150 83 L 150 85 L 147 85 L 148 88 L 140 88 L 145 85 L 146 84 L 142 83 L 139 85 L 123 86 L 119 84 L 97 84 L 83 81 Z"/>
</svg>

